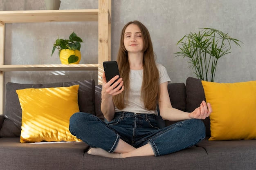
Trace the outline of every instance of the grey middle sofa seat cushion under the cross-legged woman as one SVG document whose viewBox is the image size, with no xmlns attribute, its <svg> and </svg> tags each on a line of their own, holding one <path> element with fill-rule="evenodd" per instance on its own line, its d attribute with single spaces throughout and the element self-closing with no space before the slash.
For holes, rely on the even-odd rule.
<svg viewBox="0 0 256 170">
<path fill-rule="evenodd" d="M 190 147 L 160 157 L 106 158 L 85 153 L 85 170 L 208 170 L 208 155 L 204 148 Z M 107 166 L 106 166 L 107 165 Z"/>
</svg>

